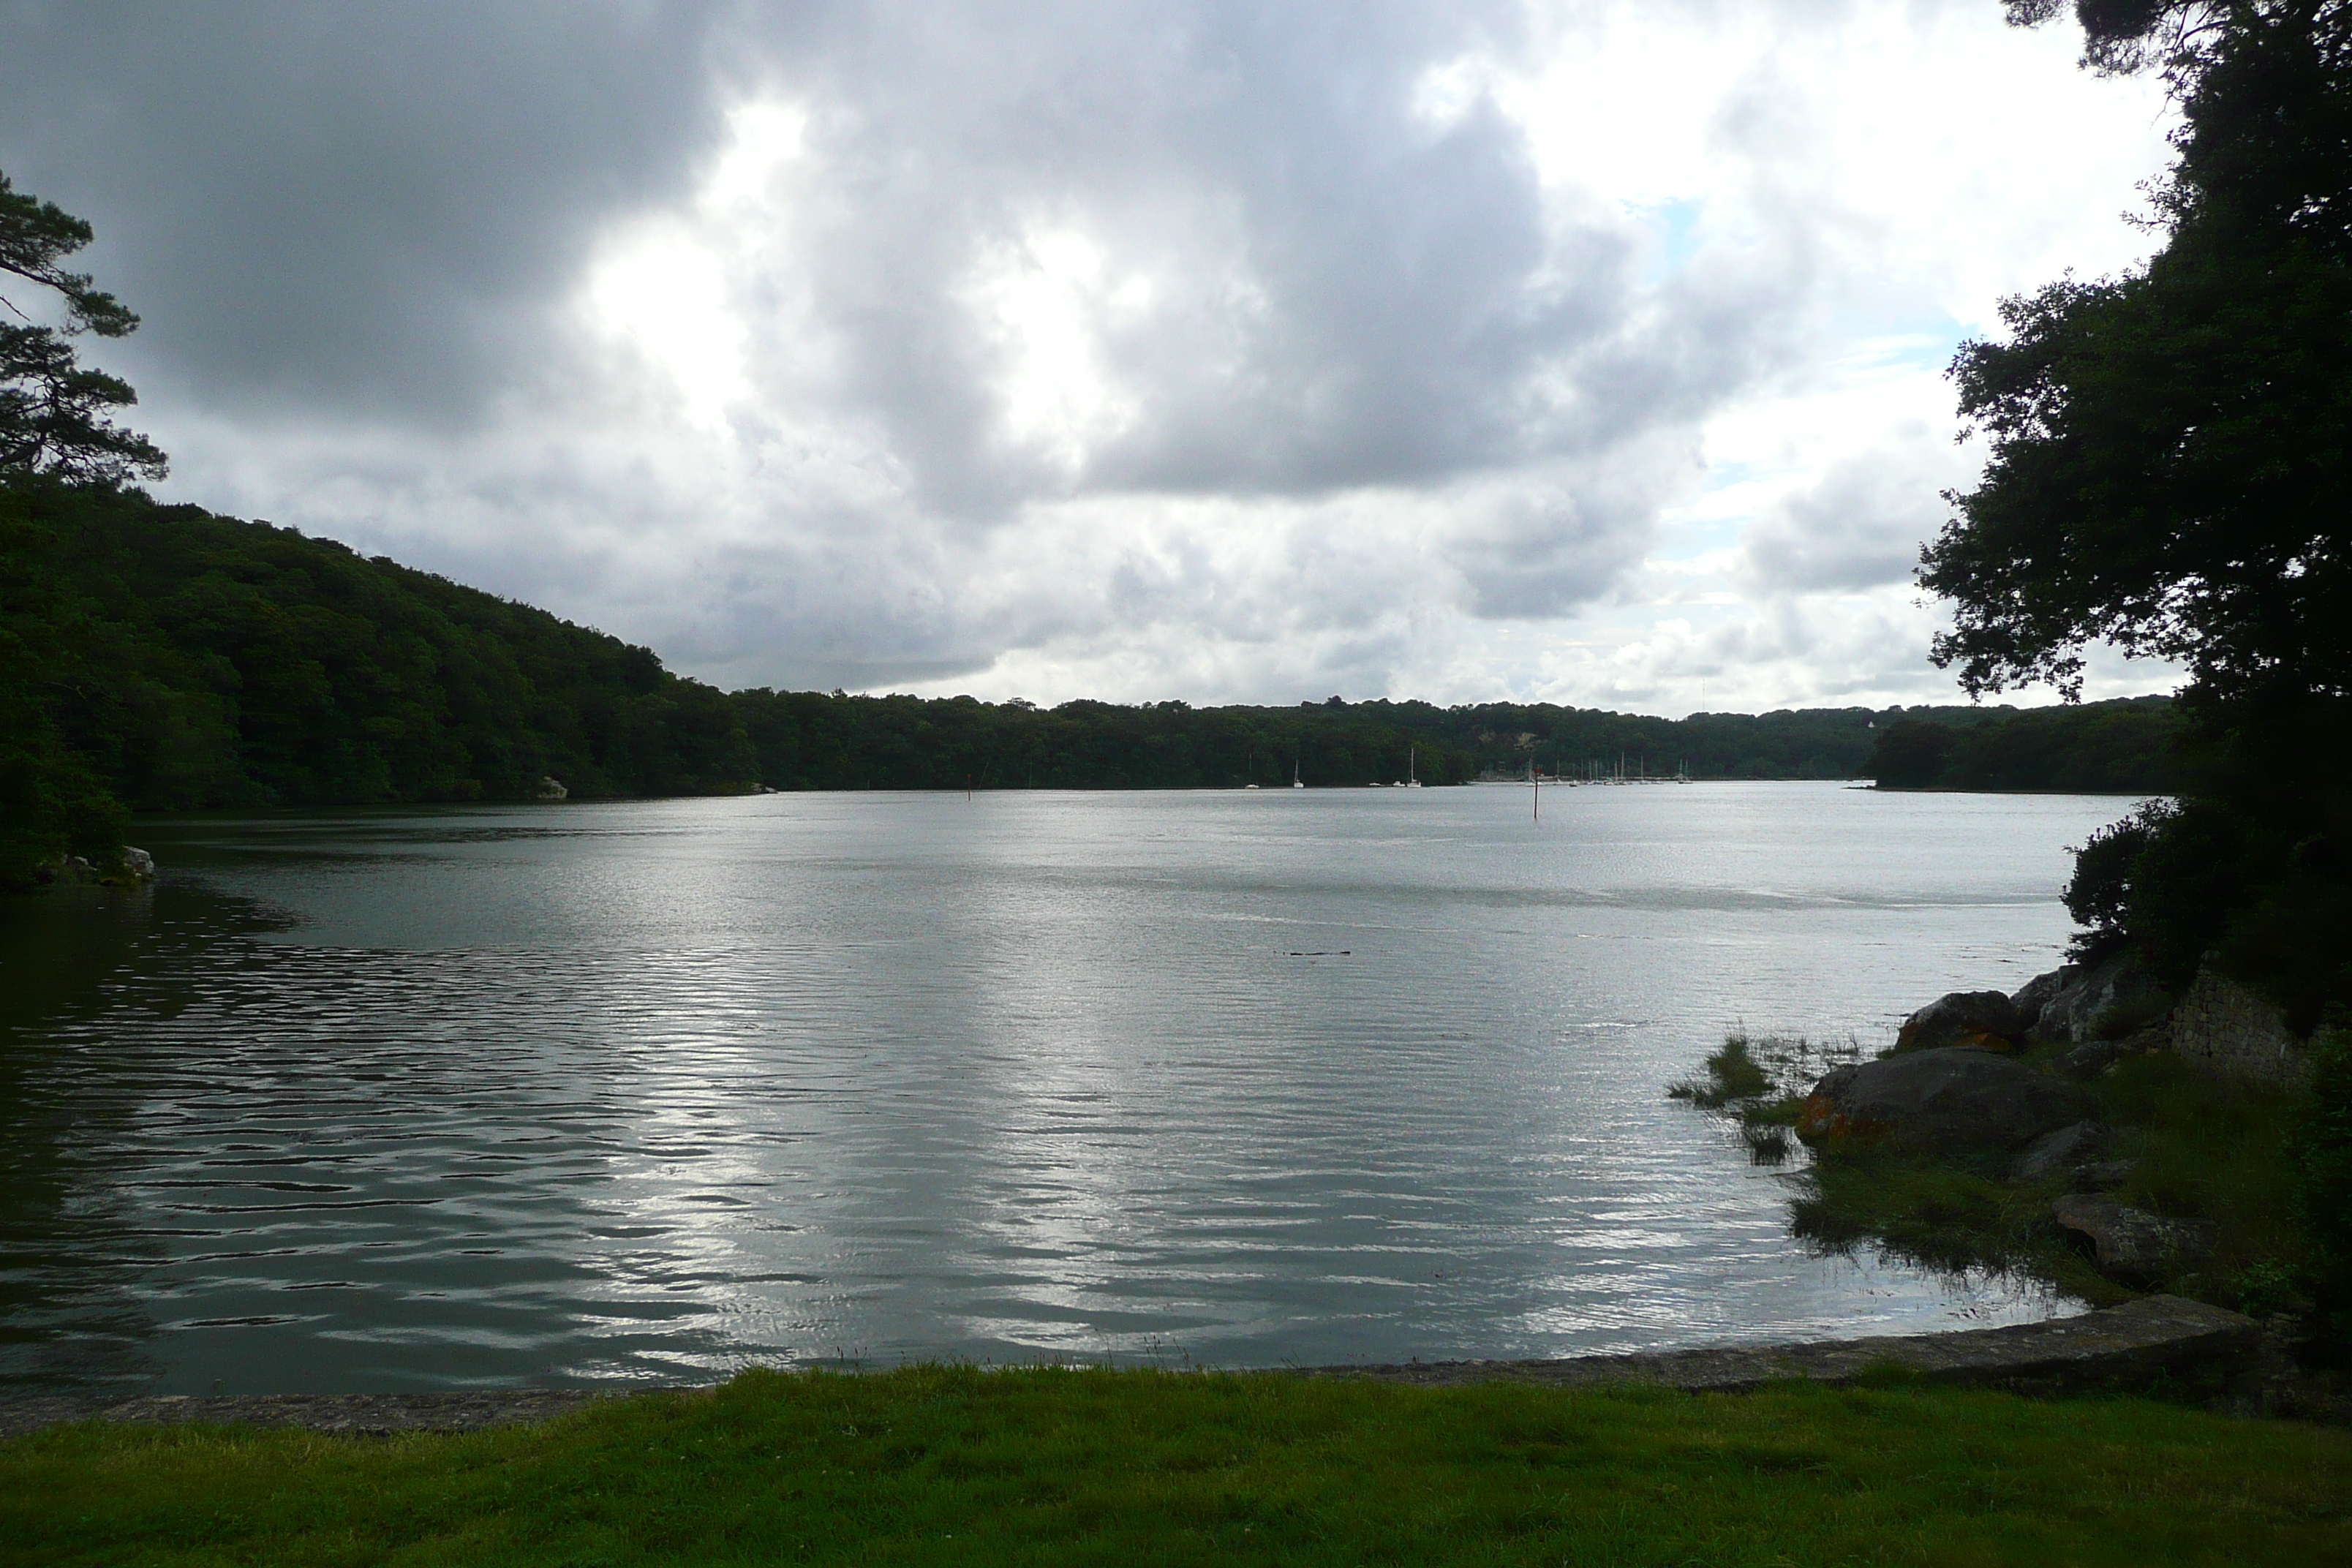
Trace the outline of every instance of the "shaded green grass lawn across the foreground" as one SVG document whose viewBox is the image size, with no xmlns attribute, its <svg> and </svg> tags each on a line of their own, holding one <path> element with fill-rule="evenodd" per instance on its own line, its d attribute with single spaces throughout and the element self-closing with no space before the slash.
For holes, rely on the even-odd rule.
<svg viewBox="0 0 2352 1568">
<path fill-rule="evenodd" d="M 527 1429 L 0 1443 L 9 1563 L 2319 1563 L 2352 1434 L 1891 1385 L 746 1373 Z"/>
</svg>

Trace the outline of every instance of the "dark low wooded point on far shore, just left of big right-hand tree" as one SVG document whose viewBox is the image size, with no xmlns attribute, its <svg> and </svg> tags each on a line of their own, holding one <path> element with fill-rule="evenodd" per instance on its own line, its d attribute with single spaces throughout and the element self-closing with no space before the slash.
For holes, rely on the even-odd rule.
<svg viewBox="0 0 2352 1568">
<path fill-rule="evenodd" d="M 1971 726 L 1898 719 L 1877 731 L 1863 773 L 1882 790 L 2173 795 L 2183 788 L 2185 724 L 2171 698 L 1997 712 Z"/>
</svg>

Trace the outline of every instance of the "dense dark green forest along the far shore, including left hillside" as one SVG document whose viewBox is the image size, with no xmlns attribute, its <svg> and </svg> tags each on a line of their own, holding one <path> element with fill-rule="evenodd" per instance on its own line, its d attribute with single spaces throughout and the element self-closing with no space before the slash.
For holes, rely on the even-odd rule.
<svg viewBox="0 0 2352 1568">
<path fill-rule="evenodd" d="M 981 703 L 724 693 L 649 649 L 266 522 L 0 487 L 7 877 L 129 811 L 941 788 L 1240 788 L 1686 771 L 2166 788 L 2157 701 L 1653 719 L 1559 705 Z M 1896 745 L 1903 741 L 1905 745 Z M 1922 771 L 1919 757 L 1933 757 Z"/>
</svg>

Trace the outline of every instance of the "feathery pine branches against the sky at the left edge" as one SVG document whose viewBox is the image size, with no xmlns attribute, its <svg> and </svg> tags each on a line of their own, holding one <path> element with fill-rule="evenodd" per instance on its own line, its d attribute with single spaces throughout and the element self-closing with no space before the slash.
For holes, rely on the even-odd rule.
<svg viewBox="0 0 2352 1568">
<path fill-rule="evenodd" d="M 162 451 L 113 423 L 113 411 L 132 407 L 139 395 L 73 353 L 71 339 L 85 331 L 120 339 L 139 327 L 139 317 L 96 289 L 89 273 L 64 268 L 64 259 L 89 240 L 89 223 L 14 190 L 0 174 L 0 273 L 52 292 L 66 310 L 64 327 L 42 327 L 0 296 L 7 303 L 0 310 L 0 475 L 45 473 L 106 484 L 165 475 Z"/>
</svg>

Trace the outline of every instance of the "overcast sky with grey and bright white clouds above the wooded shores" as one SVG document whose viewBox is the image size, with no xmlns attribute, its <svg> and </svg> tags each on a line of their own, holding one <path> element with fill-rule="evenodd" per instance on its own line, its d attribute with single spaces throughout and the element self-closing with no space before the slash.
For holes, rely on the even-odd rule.
<svg viewBox="0 0 2352 1568">
<path fill-rule="evenodd" d="M 1999 12 L 0 0 L 0 169 L 158 494 L 724 686 L 1955 701 L 1943 367 L 2169 129 Z"/>
</svg>

